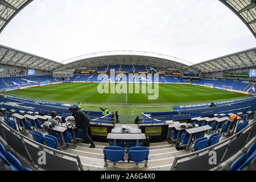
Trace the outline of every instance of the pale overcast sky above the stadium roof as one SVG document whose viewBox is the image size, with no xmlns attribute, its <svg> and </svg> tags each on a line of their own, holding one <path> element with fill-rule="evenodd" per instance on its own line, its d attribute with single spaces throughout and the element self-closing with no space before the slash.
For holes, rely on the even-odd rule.
<svg viewBox="0 0 256 182">
<path fill-rule="evenodd" d="M 3 30 L 0 44 L 54 61 L 138 50 L 199 63 L 256 40 L 217 0 L 34 0 Z"/>
</svg>

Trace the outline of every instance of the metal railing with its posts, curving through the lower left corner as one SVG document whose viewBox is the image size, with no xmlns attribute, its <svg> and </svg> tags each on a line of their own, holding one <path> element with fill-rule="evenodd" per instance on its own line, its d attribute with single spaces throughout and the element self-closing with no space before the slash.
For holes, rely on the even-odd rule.
<svg viewBox="0 0 256 182">
<path fill-rule="evenodd" d="M 29 158 L 30 158 L 30 160 L 31 160 L 31 162 L 32 162 L 32 165 L 33 165 L 34 167 L 35 167 L 36 165 L 35 165 L 34 161 L 33 161 L 32 158 L 31 158 L 30 152 L 28 151 L 28 149 L 27 149 L 27 147 L 26 147 L 26 144 L 25 144 L 25 142 L 24 142 L 24 139 L 28 140 L 28 141 L 31 142 L 31 143 L 36 144 L 37 146 L 40 146 L 40 147 L 45 148 L 45 149 L 47 149 L 47 150 L 49 150 L 49 151 L 52 151 L 54 154 L 57 153 L 57 154 L 60 154 L 60 155 L 65 155 L 65 156 L 69 156 L 69 157 L 71 157 L 71 158 L 76 159 L 76 160 L 77 160 L 77 166 L 79 167 L 80 171 L 84 171 L 84 169 L 82 168 L 81 160 L 80 160 L 80 158 L 79 158 L 78 155 L 69 154 L 69 153 L 67 153 L 67 152 L 60 151 L 60 150 L 56 150 L 56 149 L 54 149 L 54 148 L 45 146 L 44 144 L 35 142 L 34 140 L 32 140 L 32 139 L 30 139 L 30 138 L 28 138 L 28 137 L 26 137 L 26 136 L 20 134 L 18 131 L 12 129 L 10 126 L 6 125 L 6 123 L 3 122 L 2 119 L 0 119 L 0 129 L 1 129 L 1 131 L 2 131 L 3 134 L 4 134 L 4 132 L 3 132 L 3 129 L 2 129 L 2 127 L 3 127 L 2 125 L 4 125 L 5 127 L 7 127 L 7 129 L 9 129 L 10 131 L 12 131 L 13 133 L 15 133 L 16 135 L 18 135 L 18 136 L 20 137 L 20 139 L 22 140 L 22 143 L 24 144 L 24 148 L 25 148 L 25 150 L 26 150 L 26 152 L 27 152 L 27 154 L 28 154 L 28 156 L 29 156 Z M 6 140 L 6 142 L 8 143 L 8 141 L 7 141 L 6 138 L 5 138 L 5 140 Z M 17 151 L 17 152 L 19 152 L 19 151 Z"/>
</svg>

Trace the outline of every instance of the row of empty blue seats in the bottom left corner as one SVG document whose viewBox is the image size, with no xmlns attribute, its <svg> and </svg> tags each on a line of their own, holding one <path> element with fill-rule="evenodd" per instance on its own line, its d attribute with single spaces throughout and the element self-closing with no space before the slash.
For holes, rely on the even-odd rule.
<svg viewBox="0 0 256 182">
<path fill-rule="evenodd" d="M 0 142 L 0 159 L 3 163 L 7 164 L 11 171 L 32 171 L 30 168 L 23 168 L 22 164 L 11 152 L 7 152 L 5 147 Z"/>
</svg>

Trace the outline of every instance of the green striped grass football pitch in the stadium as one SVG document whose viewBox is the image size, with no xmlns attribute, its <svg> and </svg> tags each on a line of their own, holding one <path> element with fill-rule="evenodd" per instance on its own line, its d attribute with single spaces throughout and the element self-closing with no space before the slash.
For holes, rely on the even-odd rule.
<svg viewBox="0 0 256 182">
<path fill-rule="evenodd" d="M 64 83 L 14 90 L 4 94 L 64 104 L 77 104 L 77 101 L 80 101 L 83 110 L 101 111 L 99 107 L 108 107 L 109 111 L 118 110 L 119 114 L 126 116 L 141 115 L 143 112 L 171 111 L 172 106 L 175 105 L 203 104 L 249 97 L 241 93 L 203 86 L 159 84 L 159 97 L 156 100 L 148 100 L 148 96 L 154 93 L 142 93 L 144 88 L 142 84 L 139 86 L 129 84 L 126 104 L 126 92 L 101 94 L 98 93 L 98 85 L 98 83 Z M 118 87 L 117 84 L 114 86 Z M 133 86 L 133 89 L 129 90 L 130 86 Z M 135 93 L 135 88 L 139 93 Z M 152 88 L 154 90 L 154 86 Z"/>
</svg>

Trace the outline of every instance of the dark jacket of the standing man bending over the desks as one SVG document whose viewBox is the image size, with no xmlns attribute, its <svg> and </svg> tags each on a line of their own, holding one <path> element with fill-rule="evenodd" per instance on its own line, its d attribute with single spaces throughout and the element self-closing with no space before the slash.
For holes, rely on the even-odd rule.
<svg viewBox="0 0 256 182">
<path fill-rule="evenodd" d="M 75 107 L 73 110 L 72 116 L 75 118 L 76 127 L 89 127 L 90 126 L 90 118 L 81 111 L 79 107 Z"/>
</svg>

